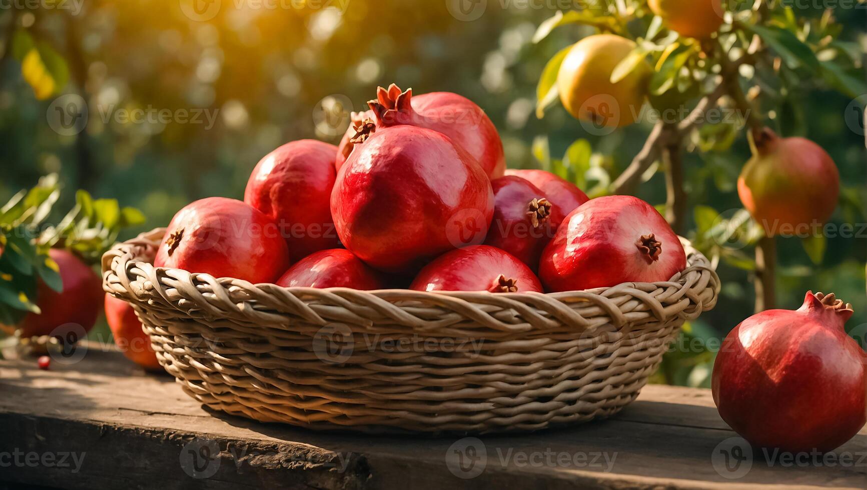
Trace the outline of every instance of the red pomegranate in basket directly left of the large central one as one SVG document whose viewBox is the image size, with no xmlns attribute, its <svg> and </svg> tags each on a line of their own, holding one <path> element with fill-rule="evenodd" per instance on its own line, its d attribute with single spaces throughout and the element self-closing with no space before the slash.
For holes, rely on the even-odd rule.
<svg viewBox="0 0 867 490">
<path fill-rule="evenodd" d="M 271 217 L 293 258 L 338 245 L 331 221 L 331 189 L 337 147 L 297 140 L 259 161 L 244 191 L 244 202 Z"/>
</svg>

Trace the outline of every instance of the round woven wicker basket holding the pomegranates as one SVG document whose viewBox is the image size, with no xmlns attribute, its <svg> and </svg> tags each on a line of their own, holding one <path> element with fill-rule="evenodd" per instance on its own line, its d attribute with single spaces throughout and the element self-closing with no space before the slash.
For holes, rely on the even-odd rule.
<svg viewBox="0 0 867 490">
<path fill-rule="evenodd" d="M 160 363 L 210 408 L 316 429 L 529 431 L 616 414 L 720 281 L 557 294 L 282 288 L 151 265 L 165 229 L 102 258 Z"/>
</svg>

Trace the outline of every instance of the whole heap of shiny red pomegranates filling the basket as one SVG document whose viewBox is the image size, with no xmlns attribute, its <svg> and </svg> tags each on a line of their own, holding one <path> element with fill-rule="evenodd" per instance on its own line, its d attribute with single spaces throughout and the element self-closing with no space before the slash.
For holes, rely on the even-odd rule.
<svg viewBox="0 0 867 490">
<path fill-rule="evenodd" d="M 665 281 L 686 267 L 641 199 L 506 172 L 496 128 L 466 97 L 392 85 L 368 107 L 340 147 L 299 140 L 266 155 L 243 202 L 186 206 L 154 265 L 285 287 L 493 293 Z"/>
</svg>

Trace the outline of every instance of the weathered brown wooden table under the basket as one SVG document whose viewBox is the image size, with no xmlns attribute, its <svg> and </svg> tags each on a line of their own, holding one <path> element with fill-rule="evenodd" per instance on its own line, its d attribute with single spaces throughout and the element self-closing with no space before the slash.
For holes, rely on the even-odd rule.
<svg viewBox="0 0 867 490">
<path fill-rule="evenodd" d="M 5 488 L 867 488 L 867 430 L 818 462 L 748 458 L 735 436 L 705 389 L 650 385 L 609 421 L 536 434 L 375 437 L 212 413 L 95 344 L 49 371 L 0 361 Z"/>
</svg>

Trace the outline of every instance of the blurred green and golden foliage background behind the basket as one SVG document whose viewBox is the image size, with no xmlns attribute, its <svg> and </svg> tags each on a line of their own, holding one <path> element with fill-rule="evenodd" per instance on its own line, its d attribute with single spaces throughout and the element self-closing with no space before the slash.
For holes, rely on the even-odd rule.
<svg viewBox="0 0 867 490">
<path fill-rule="evenodd" d="M 488 0 L 472 21 L 452 15 L 452 0 L 195 2 L 42 0 L 38 9 L 0 10 L 0 202 L 59 173 L 67 188 L 61 199 L 68 199 L 60 208 L 72 206 L 72 191 L 81 188 L 145 213 L 147 223 L 127 235 L 166 225 L 193 199 L 242 198 L 252 167 L 286 141 L 336 143 L 349 124 L 342 115 L 365 108 L 376 86 L 391 82 L 479 103 L 499 127 L 510 167 L 538 167 L 545 147 L 562 155 L 583 138 L 596 165 L 616 177 L 649 133 L 642 123 L 603 137 L 587 134 L 559 104 L 537 119 L 535 90 L 545 62 L 590 29 L 557 29 L 538 44 L 531 38 L 570 2 Z M 833 11 L 844 26 L 838 41 L 863 56 L 867 9 L 845 4 L 851 8 Z M 38 57 L 28 57 L 31 51 Z M 850 97 L 805 82 L 808 89 L 789 94 L 773 118 L 784 135 L 809 136 L 837 162 L 847 204 L 832 221 L 855 224 L 859 236 L 830 238 L 819 266 L 798 239 L 780 238 L 779 304 L 797 308 L 809 289 L 834 291 L 855 306 L 851 328 L 867 330 L 867 229 L 858 225 L 867 223 L 864 132 L 847 127 L 845 111 L 858 110 Z M 69 95 L 86 101 L 81 132 L 57 125 L 74 100 Z M 691 209 L 740 208 L 735 182 L 749 158 L 746 138 L 724 153 L 694 149 L 686 158 Z M 662 174 L 642 184 L 639 195 L 664 203 Z M 719 338 L 748 317 L 749 274 L 720 263 L 720 305 L 685 335 Z M 702 350 L 675 352 L 656 379 L 706 384 L 701 369 L 709 372 L 712 358 Z"/>
</svg>

